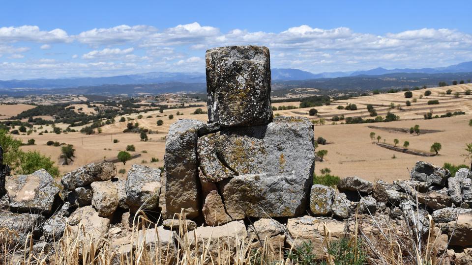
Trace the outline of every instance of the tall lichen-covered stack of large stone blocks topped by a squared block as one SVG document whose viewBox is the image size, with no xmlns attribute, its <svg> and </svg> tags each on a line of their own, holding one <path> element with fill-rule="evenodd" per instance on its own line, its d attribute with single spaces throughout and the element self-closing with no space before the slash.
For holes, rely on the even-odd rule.
<svg viewBox="0 0 472 265">
<path fill-rule="evenodd" d="M 166 214 L 208 225 L 307 210 L 314 168 L 305 118 L 273 118 L 266 47 L 207 51 L 208 123 L 178 120 L 166 141 Z"/>
</svg>

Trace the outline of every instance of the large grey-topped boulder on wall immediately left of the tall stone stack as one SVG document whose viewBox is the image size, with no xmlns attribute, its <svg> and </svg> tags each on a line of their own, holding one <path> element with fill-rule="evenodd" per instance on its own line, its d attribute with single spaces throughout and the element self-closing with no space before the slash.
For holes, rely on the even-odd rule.
<svg viewBox="0 0 472 265">
<path fill-rule="evenodd" d="M 128 171 L 126 180 L 126 204 L 132 212 L 155 209 L 161 192 L 161 171 L 145 165 L 134 164 Z"/>
</svg>

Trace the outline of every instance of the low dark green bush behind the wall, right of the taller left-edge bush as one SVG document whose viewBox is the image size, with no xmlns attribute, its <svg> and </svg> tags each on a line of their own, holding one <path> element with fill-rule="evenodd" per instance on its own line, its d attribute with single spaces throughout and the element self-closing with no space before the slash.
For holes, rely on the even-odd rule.
<svg viewBox="0 0 472 265">
<path fill-rule="evenodd" d="M 59 168 L 54 166 L 51 157 L 46 157 L 37 151 L 29 151 L 23 154 L 21 169 L 18 171 L 18 174 L 31 174 L 41 168 L 44 168 L 51 176 L 59 177 Z"/>
</svg>

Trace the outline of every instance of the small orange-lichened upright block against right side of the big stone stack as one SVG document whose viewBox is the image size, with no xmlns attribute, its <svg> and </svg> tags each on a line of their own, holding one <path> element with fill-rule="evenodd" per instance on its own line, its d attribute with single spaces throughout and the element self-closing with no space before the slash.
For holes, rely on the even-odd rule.
<svg viewBox="0 0 472 265">
<path fill-rule="evenodd" d="M 334 189 L 324 185 L 313 185 L 310 193 L 310 210 L 315 215 L 328 215 L 331 213 Z"/>
</svg>

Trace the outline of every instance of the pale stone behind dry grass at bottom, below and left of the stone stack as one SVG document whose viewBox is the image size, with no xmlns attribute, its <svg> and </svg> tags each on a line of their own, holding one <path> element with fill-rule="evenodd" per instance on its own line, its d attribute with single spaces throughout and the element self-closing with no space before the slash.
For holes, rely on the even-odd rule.
<svg viewBox="0 0 472 265">
<path fill-rule="evenodd" d="M 148 248 L 145 255 L 149 256 L 144 257 L 143 260 L 155 261 L 156 257 L 161 257 L 162 264 L 173 264 L 174 259 L 172 257 L 177 254 L 174 233 L 165 230 L 163 226 L 139 230 L 134 245 L 144 245 Z M 171 258 L 166 260 L 167 256 Z"/>
</svg>

